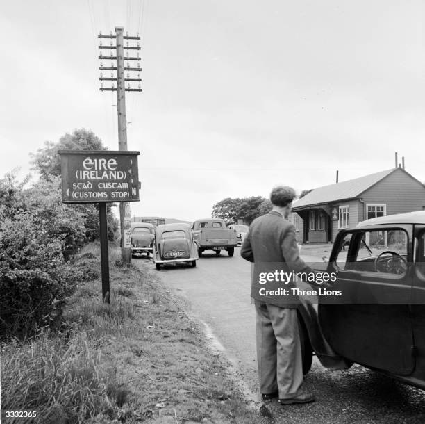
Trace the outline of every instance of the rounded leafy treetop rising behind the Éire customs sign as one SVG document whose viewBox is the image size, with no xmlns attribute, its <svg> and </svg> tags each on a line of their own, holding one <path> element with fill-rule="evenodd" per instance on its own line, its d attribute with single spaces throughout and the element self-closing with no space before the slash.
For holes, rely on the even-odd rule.
<svg viewBox="0 0 425 424">
<path fill-rule="evenodd" d="M 44 142 L 44 147 L 35 154 L 30 153 L 33 169 L 38 171 L 40 177 L 49 180 L 60 175 L 59 150 L 108 150 L 108 147 L 92 130 L 84 128 L 74 129 L 72 134 L 66 133 L 58 142 Z"/>
</svg>

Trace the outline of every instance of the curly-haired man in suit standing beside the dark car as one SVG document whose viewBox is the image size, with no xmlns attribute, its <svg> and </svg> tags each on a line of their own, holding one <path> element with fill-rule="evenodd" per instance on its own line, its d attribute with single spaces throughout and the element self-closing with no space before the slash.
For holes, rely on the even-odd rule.
<svg viewBox="0 0 425 424">
<path fill-rule="evenodd" d="M 267 275 L 278 277 L 283 272 L 314 272 L 299 257 L 295 228 L 287 220 L 294 197 L 293 188 L 275 187 L 270 195 L 272 211 L 253 220 L 240 251 L 242 258 L 254 263 L 251 297 L 257 315 L 260 390 L 263 400 L 278 398 L 281 405 L 315 401 L 315 396 L 301 389 L 303 364 L 297 318 L 298 299 L 290 295 L 290 288 L 295 287 L 294 282 L 275 280 L 272 288 L 281 290 L 270 291 L 271 284 L 267 280 L 267 286 L 264 278 Z M 283 292 L 283 288 L 287 291 Z"/>
</svg>

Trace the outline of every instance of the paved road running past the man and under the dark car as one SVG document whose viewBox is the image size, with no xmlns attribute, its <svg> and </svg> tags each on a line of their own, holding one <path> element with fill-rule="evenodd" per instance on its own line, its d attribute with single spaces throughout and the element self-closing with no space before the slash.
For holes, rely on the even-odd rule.
<svg viewBox="0 0 425 424">
<path fill-rule="evenodd" d="M 249 273 L 250 264 L 236 250 L 233 258 L 204 253 L 197 268 L 168 266 L 158 275 L 169 290 L 185 297 L 190 315 L 212 329 L 247 387 L 258 393 Z M 361 366 L 331 372 L 315 359 L 305 386 L 317 402 L 291 407 L 272 402 L 276 423 L 425 423 L 424 391 Z"/>
</svg>

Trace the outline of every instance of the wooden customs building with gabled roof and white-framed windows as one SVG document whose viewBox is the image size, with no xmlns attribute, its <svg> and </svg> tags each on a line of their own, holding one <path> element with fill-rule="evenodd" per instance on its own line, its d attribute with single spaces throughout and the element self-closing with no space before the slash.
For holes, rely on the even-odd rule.
<svg viewBox="0 0 425 424">
<path fill-rule="evenodd" d="M 403 168 L 392 168 L 315 188 L 294 202 L 291 220 L 299 243 L 326 243 L 360 221 L 422 209 L 424 184 Z"/>
</svg>

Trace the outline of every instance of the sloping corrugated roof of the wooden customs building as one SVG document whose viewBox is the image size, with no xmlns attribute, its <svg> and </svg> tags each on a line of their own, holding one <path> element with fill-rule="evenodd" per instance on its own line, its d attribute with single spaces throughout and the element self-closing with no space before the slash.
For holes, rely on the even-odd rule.
<svg viewBox="0 0 425 424">
<path fill-rule="evenodd" d="M 373 186 L 384 177 L 391 174 L 398 168 L 376 172 L 375 174 L 365 175 L 364 177 L 349 179 L 348 181 L 341 181 L 340 183 L 330 184 L 315 188 L 310 191 L 308 195 L 301 197 L 301 199 L 294 202 L 292 210 L 304 208 L 306 206 L 313 206 L 315 204 L 338 202 L 343 199 L 352 199 L 363 193 L 367 188 Z"/>
</svg>

